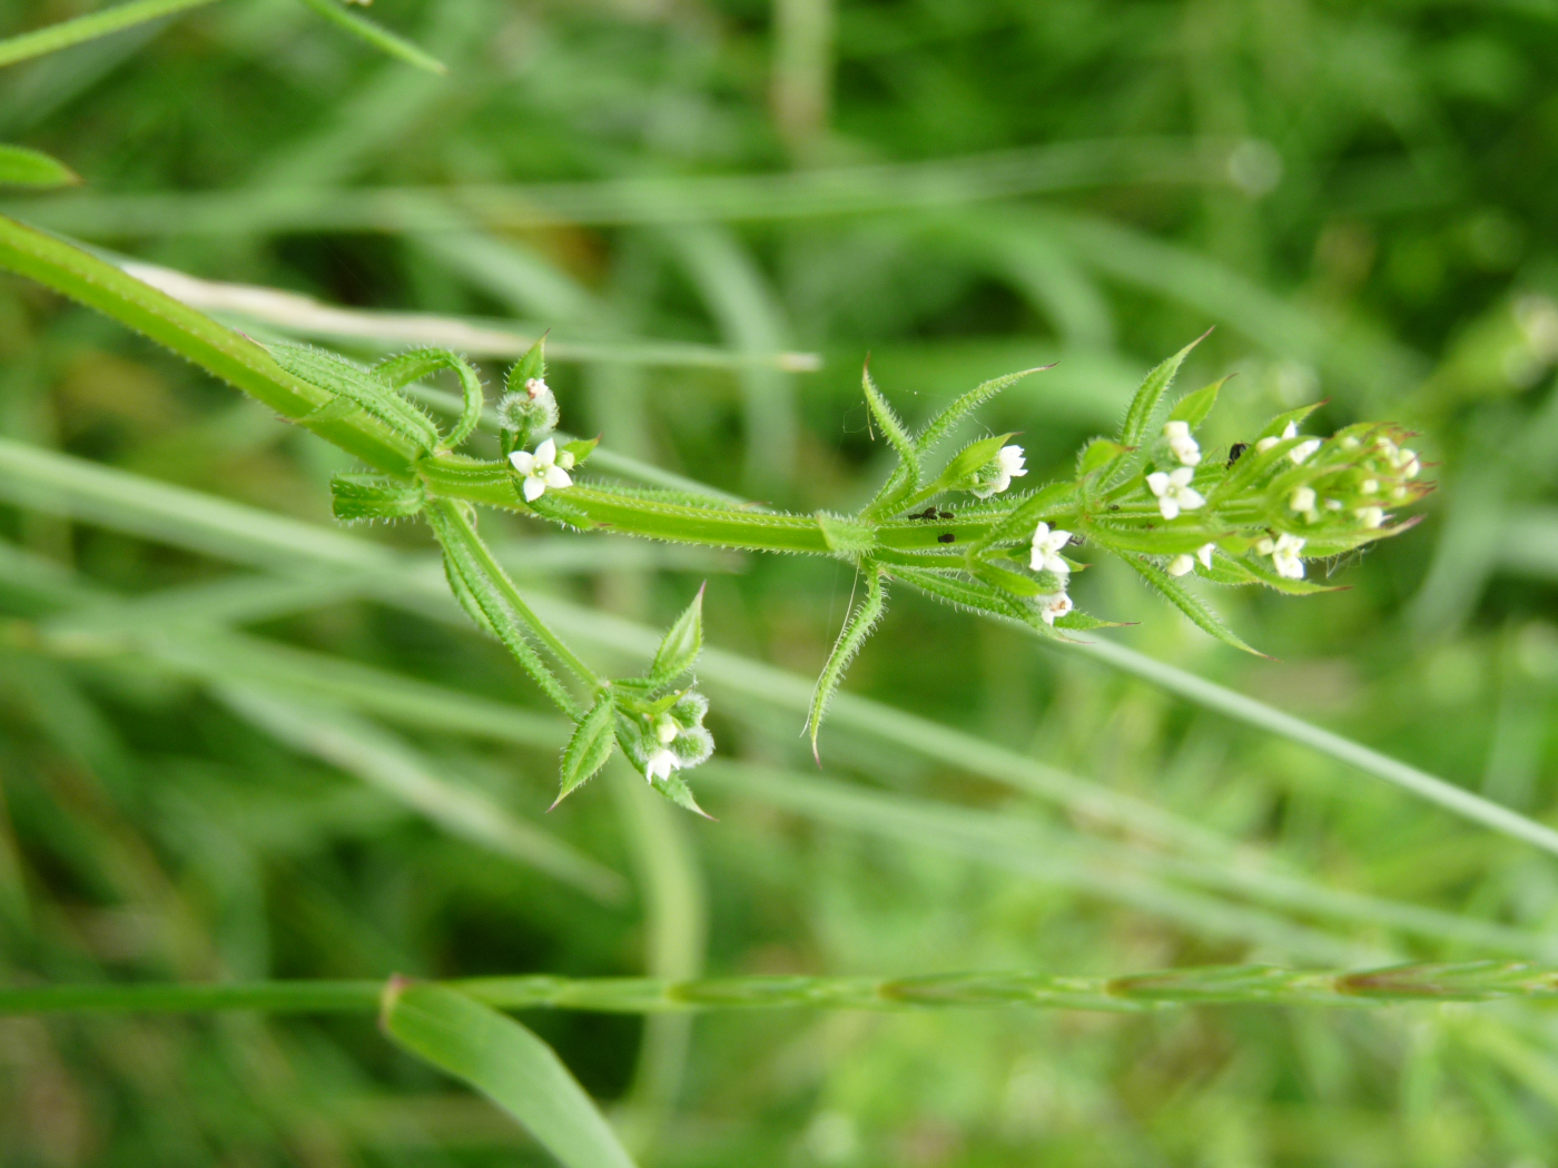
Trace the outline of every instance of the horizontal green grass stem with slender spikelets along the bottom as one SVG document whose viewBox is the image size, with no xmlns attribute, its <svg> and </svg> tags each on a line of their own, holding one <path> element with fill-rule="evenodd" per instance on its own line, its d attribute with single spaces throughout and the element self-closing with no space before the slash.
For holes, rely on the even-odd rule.
<svg viewBox="0 0 1558 1168">
<path fill-rule="evenodd" d="M 915 1009 L 1031 1006 L 1139 1012 L 1168 1006 L 1377 1006 L 1387 1003 L 1549 1001 L 1558 969 L 1466 961 L 1368 970 L 1200 966 L 1120 978 L 1052 973 L 930 973 L 910 978 L 760 975 L 656 978 L 466 978 L 441 983 L 499 1009 L 575 1009 L 609 1014 L 667 1011 Z M 380 981 L 256 981 L 232 984 L 25 986 L 0 989 L 0 1014 L 273 1014 L 372 1012 Z"/>
</svg>

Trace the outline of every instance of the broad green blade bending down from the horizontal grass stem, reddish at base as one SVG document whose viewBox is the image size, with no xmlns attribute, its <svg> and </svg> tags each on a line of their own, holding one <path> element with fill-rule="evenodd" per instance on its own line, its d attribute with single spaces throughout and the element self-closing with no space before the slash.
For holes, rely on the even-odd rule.
<svg viewBox="0 0 1558 1168">
<path fill-rule="evenodd" d="M 633 1168 L 562 1061 L 513 1018 L 447 986 L 394 978 L 385 987 L 380 1023 L 399 1047 L 519 1120 L 564 1168 Z"/>
</svg>

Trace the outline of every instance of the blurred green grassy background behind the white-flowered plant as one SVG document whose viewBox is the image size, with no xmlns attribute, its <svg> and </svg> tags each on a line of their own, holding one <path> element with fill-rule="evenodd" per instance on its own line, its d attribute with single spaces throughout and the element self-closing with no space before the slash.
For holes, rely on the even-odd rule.
<svg viewBox="0 0 1558 1168">
<path fill-rule="evenodd" d="M 0 31 L 76 11 L 0 5 Z M 1187 383 L 1239 372 L 1225 445 L 1317 396 L 1317 431 L 1391 417 L 1441 464 L 1430 520 L 1337 565 L 1349 592 L 1220 595 L 1276 660 L 1217 646 L 1109 567 L 1078 578 L 1081 603 L 1139 618 L 1120 639 L 1151 656 L 1552 819 L 1558 9 L 380 0 L 374 16 L 449 76 L 285 0 L 11 67 L 0 134 L 87 184 L 8 209 L 204 279 L 550 325 L 566 425 L 801 509 L 855 506 L 885 472 L 866 350 L 911 422 L 1058 360 L 985 419 L 1022 431 L 1033 483 L 1217 324 Z M 946 159 L 969 160 L 876 170 Z M 710 179 L 729 174 L 771 178 Z M 329 523 L 347 466 L 318 439 L 36 287 L 0 282 L 0 316 L 6 439 Z M 548 724 L 514 713 L 534 695 L 446 612 L 93 512 L 14 459 L 0 495 L 9 981 L 1552 956 L 1550 858 L 908 595 L 846 688 L 927 723 L 841 705 L 818 777 L 798 710 L 706 677 L 724 762 L 698 793 L 718 824 L 671 818 L 622 776 L 542 819 Z M 709 576 L 709 642 L 801 674 L 851 593 L 841 565 L 488 529 L 534 593 L 661 626 Z M 377 539 L 427 550 L 410 528 Z M 302 582 L 245 607 L 266 573 Z M 61 610 L 75 651 L 69 624 L 36 639 Z M 246 637 L 210 628 L 224 612 Z M 114 620 L 164 649 L 79 639 Z M 390 681 L 343 662 L 455 699 L 439 721 L 418 690 L 422 713 L 397 716 Z M 332 712 L 361 691 L 374 719 Z M 1045 768 L 1245 847 L 1122 832 L 1086 791 L 1041 797 Z M 654 1165 L 1508 1165 L 1546 1163 L 1558 1135 L 1558 1029 L 1533 1009 L 527 1020 Z M 502 1115 L 361 1020 L 0 1023 L 6 1163 L 527 1156 L 541 1162 Z"/>
</svg>

